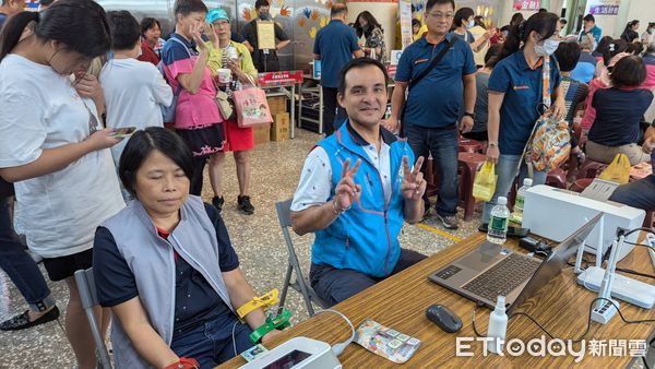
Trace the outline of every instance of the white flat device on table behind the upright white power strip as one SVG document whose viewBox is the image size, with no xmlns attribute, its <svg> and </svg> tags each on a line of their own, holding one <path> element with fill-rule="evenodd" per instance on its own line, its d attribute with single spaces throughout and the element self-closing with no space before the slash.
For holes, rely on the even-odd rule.
<svg viewBox="0 0 655 369">
<path fill-rule="evenodd" d="M 597 293 L 604 275 L 605 270 L 603 267 L 590 266 L 577 275 L 577 283 Z M 655 286 L 615 273 L 611 297 L 636 305 L 640 308 L 651 309 L 655 306 Z"/>
</svg>

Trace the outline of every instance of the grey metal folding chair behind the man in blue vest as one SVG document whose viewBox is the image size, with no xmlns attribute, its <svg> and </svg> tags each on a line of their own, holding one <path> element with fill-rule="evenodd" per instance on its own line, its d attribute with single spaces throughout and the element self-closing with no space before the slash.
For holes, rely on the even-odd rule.
<svg viewBox="0 0 655 369">
<path fill-rule="evenodd" d="M 284 307 L 286 295 L 290 286 L 291 288 L 294 288 L 302 295 L 305 303 L 307 305 L 307 311 L 309 312 L 310 317 L 313 317 L 314 309 L 312 302 L 320 306 L 323 309 L 326 309 L 329 305 L 317 295 L 313 288 L 311 288 L 309 281 L 302 274 L 300 263 L 298 263 L 296 249 L 294 248 L 291 235 L 289 234 L 289 227 L 291 226 L 291 201 L 293 200 L 289 199 L 287 201 L 281 201 L 275 203 L 275 209 L 277 210 L 277 218 L 279 221 L 282 234 L 284 235 L 284 240 L 286 242 L 287 251 L 289 254 L 289 262 L 287 265 L 286 276 L 284 278 L 284 286 L 282 287 L 282 296 L 279 297 L 279 309 Z M 296 279 L 291 282 L 291 274 L 294 272 L 296 274 Z"/>
</svg>

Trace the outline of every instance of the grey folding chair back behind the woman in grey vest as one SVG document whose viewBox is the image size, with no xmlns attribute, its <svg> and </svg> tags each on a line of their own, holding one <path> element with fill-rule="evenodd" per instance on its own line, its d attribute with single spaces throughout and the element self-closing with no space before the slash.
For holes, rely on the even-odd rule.
<svg viewBox="0 0 655 369">
<path fill-rule="evenodd" d="M 80 291 L 80 299 L 82 300 L 82 308 L 86 313 L 86 320 L 91 326 L 91 333 L 93 334 L 93 341 L 96 344 L 97 355 L 100 359 L 99 367 L 103 369 L 112 369 L 111 360 L 109 359 L 109 353 L 107 346 L 105 346 L 105 340 L 100 333 L 100 326 L 96 320 L 93 308 L 98 306 L 98 298 L 95 291 L 95 282 L 93 277 L 93 267 L 87 270 L 79 270 L 75 272 L 75 283 L 78 284 L 78 290 Z"/>
</svg>

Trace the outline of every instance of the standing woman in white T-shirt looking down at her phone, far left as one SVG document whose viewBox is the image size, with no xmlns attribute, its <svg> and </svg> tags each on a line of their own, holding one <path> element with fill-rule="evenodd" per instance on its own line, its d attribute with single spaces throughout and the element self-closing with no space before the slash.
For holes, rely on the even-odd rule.
<svg viewBox="0 0 655 369">
<path fill-rule="evenodd" d="M 66 332 L 78 366 L 94 368 L 73 274 L 92 266 L 96 227 L 124 206 L 108 150 L 120 140 L 99 124 L 102 91 L 86 73 L 110 47 L 105 11 L 92 0 L 59 0 L 12 16 L 0 39 L 0 176 L 14 182 L 29 249 L 68 286 Z"/>
</svg>

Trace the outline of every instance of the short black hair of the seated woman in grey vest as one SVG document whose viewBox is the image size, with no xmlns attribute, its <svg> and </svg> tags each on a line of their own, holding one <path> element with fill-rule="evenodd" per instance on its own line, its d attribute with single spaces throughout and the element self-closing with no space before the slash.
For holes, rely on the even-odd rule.
<svg viewBox="0 0 655 369">
<path fill-rule="evenodd" d="M 171 130 L 148 127 L 132 134 L 118 163 L 118 176 L 130 194 L 136 195 L 136 171 L 154 151 L 177 164 L 189 180 L 193 178 L 193 155 L 184 141 Z"/>
</svg>

